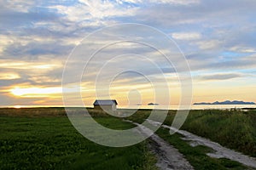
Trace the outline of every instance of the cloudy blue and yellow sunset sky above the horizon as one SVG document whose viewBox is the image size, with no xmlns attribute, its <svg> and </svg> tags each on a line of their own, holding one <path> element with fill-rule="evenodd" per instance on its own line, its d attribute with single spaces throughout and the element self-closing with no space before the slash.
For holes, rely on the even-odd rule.
<svg viewBox="0 0 256 170">
<path fill-rule="evenodd" d="M 125 23 L 152 27 L 177 44 L 173 54 L 179 49 L 189 65 L 192 102 L 256 102 L 255 8 L 255 0 L 1 0 L 0 105 L 63 105 L 62 73 L 68 56 L 84 37 L 89 51 L 109 45 L 114 31 L 95 32 Z M 150 37 L 148 32 L 137 34 L 143 34 L 137 29 L 118 34 Z M 96 36 L 89 41 L 90 35 Z M 160 50 L 170 50 L 152 37 Z M 77 65 L 90 59 L 87 52 Z M 108 65 L 102 62 L 106 59 Z M 164 96 L 170 94 L 172 105 L 178 105 L 182 91 L 176 66 L 166 65 L 160 54 L 139 43 L 109 45 L 84 68 L 81 97 L 84 105 L 92 105 L 97 97 L 117 99 L 119 105 L 147 105 L 158 95 L 163 96 L 158 103 L 167 105 Z M 161 88 L 163 84 L 168 89 Z M 72 99 L 73 90 L 68 93 Z M 76 104 L 74 97 L 70 105 Z"/>
</svg>

